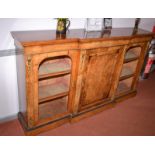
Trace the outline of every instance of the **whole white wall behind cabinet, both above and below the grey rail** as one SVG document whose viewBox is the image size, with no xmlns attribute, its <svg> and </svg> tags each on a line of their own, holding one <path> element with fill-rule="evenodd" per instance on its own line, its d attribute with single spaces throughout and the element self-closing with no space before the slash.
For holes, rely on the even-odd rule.
<svg viewBox="0 0 155 155">
<path fill-rule="evenodd" d="M 133 27 L 134 18 L 115 18 L 113 27 Z M 152 30 L 155 19 L 142 19 L 140 27 Z M 71 29 L 84 28 L 85 19 L 71 19 Z M 10 31 L 55 29 L 56 20 L 47 19 L 0 19 L 0 52 L 6 49 L 14 49 L 13 38 Z M 1 54 L 1 53 L 0 53 Z M 13 116 L 18 112 L 18 89 L 16 76 L 15 56 L 0 57 L 0 120 Z"/>
</svg>

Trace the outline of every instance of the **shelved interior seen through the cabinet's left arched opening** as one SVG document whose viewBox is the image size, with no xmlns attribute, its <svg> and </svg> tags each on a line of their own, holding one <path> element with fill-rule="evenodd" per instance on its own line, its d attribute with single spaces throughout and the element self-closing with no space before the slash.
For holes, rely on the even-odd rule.
<svg viewBox="0 0 155 155">
<path fill-rule="evenodd" d="M 48 58 L 39 67 L 39 118 L 67 112 L 71 61 L 68 57 Z"/>
</svg>

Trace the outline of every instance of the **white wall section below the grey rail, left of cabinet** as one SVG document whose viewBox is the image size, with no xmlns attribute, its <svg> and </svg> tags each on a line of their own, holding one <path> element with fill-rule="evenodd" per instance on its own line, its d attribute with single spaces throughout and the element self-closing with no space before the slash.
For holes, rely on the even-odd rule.
<svg viewBox="0 0 155 155">
<path fill-rule="evenodd" d="M 15 56 L 0 57 L 0 120 L 18 112 Z"/>
</svg>

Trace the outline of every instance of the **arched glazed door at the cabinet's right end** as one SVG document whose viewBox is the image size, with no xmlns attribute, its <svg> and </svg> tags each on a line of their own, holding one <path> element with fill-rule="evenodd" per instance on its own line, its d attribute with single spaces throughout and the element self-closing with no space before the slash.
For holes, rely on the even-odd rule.
<svg viewBox="0 0 155 155">
<path fill-rule="evenodd" d="M 116 90 L 116 98 L 136 91 L 139 74 L 148 48 L 148 42 L 129 44 Z"/>
</svg>

